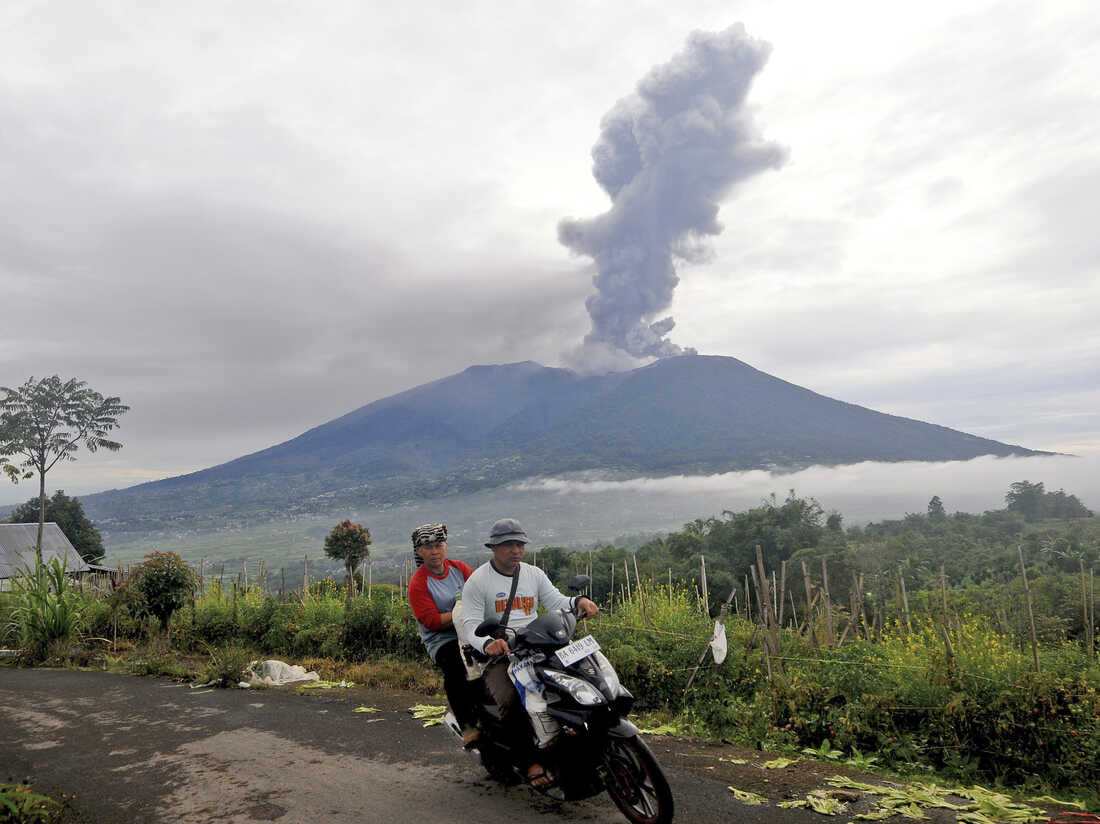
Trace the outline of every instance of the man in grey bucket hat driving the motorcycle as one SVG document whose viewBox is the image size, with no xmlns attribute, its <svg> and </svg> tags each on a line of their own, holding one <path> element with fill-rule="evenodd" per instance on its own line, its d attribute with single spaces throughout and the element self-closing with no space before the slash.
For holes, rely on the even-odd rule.
<svg viewBox="0 0 1100 824">
<path fill-rule="evenodd" d="M 551 784 L 554 777 L 539 761 L 530 719 L 508 675 L 507 656 L 512 649 L 505 639 L 479 636 L 476 630 L 487 618 L 515 629 L 525 627 L 538 617 L 539 606 L 547 609 L 568 607 L 580 617 L 595 615 L 600 607 L 584 596 L 563 595 L 542 570 L 524 563 L 524 550 L 529 542 L 527 532 L 515 518 L 502 518 L 493 524 L 485 542 L 493 550 L 493 558 L 466 581 L 461 620 L 472 646 L 494 658 L 483 672 L 485 685 L 501 708 L 502 718 L 507 722 L 514 751 L 526 761 L 528 782 L 531 787 L 543 788 Z"/>
</svg>

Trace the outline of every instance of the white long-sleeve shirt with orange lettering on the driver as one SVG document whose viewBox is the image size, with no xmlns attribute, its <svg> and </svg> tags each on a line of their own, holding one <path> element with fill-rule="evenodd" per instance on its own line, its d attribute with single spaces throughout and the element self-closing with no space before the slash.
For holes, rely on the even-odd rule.
<svg viewBox="0 0 1100 824">
<path fill-rule="evenodd" d="M 466 580 L 462 587 L 462 626 L 470 642 L 484 651 L 485 645 L 492 638 L 476 635 L 477 626 L 486 618 L 504 617 L 508 606 L 508 593 L 512 591 L 512 575 L 497 572 L 492 561 L 483 563 Z M 538 617 L 539 606 L 547 609 L 573 608 L 576 598 L 562 595 L 550 583 L 547 573 L 529 563 L 519 564 L 519 583 L 516 585 L 516 596 L 512 601 L 512 613 L 508 615 L 508 626 L 515 629 L 525 627 Z"/>
</svg>

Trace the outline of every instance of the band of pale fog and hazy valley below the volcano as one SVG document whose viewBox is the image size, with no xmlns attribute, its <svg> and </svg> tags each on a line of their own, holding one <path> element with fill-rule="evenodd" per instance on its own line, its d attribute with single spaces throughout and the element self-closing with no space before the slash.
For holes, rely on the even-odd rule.
<svg viewBox="0 0 1100 824">
<path fill-rule="evenodd" d="M 1004 493 L 1016 481 L 1043 482 L 1050 492 L 1064 488 L 1093 512 L 1100 509 L 1100 454 L 859 463 L 792 473 L 729 472 L 630 481 L 548 479 L 473 495 L 301 516 L 210 535 L 108 536 L 108 558 L 110 563 L 132 562 L 151 549 L 161 549 L 180 552 L 195 562 L 200 558 L 264 558 L 268 568 L 275 569 L 300 561 L 305 553 L 316 559 L 310 564 L 323 565 L 320 547 L 324 535 L 334 523 L 351 517 L 371 529 L 375 569 L 383 573 L 388 565 L 394 576 L 408 552 L 409 532 L 429 521 L 448 525 L 453 557 L 481 563 L 488 556 L 482 543 L 490 525 L 505 516 L 524 523 L 537 551 L 537 547 L 580 548 L 622 538 L 637 542 L 656 532 L 680 529 L 695 518 L 721 515 L 724 509 L 759 506 L 772 493 L 781 501 L 791 490 L 816 498 L 826 512 L 839 512 L 846 526 L 925 512 L 933 495 L 941 497 L 949 513 L 982 513 L 1003 508 Z"/>
</svg>

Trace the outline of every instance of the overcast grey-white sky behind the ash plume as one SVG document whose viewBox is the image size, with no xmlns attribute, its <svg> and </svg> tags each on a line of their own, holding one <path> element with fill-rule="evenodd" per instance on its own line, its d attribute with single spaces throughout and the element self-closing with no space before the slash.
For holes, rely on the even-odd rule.
<svg viewBox="0 0 1100 824">
<path fill-rule="evenodd" d="M 1100 451 L 1088 2 L 0 4 L 0 384 L 132 406 L 50 487 L 201 469 L 475 363 L 575 362 L 601 121 L 691 32 L 770 44 L 776 161 L 723 196 L 672 343 Z M 1041 479 L 1035 479 L 1041 480 Z M 0 487 L 0 503 L 36 490 Z"/>
</svg>

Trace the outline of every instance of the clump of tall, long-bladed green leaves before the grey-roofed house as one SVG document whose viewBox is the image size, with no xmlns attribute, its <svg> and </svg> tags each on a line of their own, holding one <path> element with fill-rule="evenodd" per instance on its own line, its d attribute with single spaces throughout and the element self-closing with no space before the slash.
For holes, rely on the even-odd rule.
<svg viewBox="0 0 1100 824">
<path fill-rule="evenodd" d="M 82 627 L 82 600 L 57 558 L 48 563 L 36 560 L 33 570 L 13 579 L 11 601 L 4 637 L 14 639 L 24 660 L 56 655 Z"/>
</svg>

